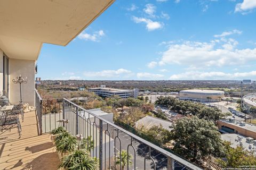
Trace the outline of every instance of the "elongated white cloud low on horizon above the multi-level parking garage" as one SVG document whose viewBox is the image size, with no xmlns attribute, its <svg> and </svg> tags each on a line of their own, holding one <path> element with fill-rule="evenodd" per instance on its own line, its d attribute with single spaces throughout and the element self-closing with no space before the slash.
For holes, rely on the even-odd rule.
<svg viewBox="0 0 256 170">
<path fill-rule="evenodd" d="M 98 72 L 84 72 L 85 77 L 101 77 L 101 78 L 118 78 L 121 76 L 127 77 L 132 72 L 130 70 L 118 69 L 118 70 L 102 70 Z"/>
</svg>

